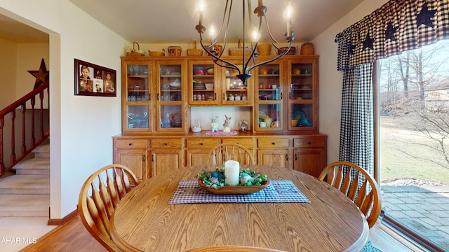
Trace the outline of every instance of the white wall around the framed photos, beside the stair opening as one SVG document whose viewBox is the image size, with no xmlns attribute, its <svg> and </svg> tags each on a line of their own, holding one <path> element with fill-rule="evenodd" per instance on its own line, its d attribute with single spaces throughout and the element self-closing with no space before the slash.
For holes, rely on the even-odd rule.
<svg viewBox="0 0 449 252">
<path fill-rule="evenodd" d="M 51 218 L 58 219 L 76 209 L 88 175 L 112 163 L 111 136 L 121 133 L 120 78 L 117 97 L 75 96 L 74 58 L 121 76 L 130 43 L 67 0 L 24 2 L 0 1 L 0 13 L 50 34 Z"/>
</svg>

